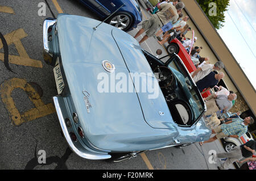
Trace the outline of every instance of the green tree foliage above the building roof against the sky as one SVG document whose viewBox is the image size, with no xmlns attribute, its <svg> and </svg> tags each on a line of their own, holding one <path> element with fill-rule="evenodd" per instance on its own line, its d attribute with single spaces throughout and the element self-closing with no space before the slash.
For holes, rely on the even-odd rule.
<svg viewBox="0 0 256 181">
<path fill-rule="evenodd" d="M 218 30 L 223 27 L 225 22 L 225 15 L 224 12 L 227 10 L 229 6 L 229 0 L 196 0 L 201 9 L 205 12 L 207 17 L 209 18 L 210 22 L 212 22 L 213 26 Z M 216 3 L 216 15 L 212 15 L 213 12 L 213 5 L 209 6 L 210 3 Z"/>
</svg>

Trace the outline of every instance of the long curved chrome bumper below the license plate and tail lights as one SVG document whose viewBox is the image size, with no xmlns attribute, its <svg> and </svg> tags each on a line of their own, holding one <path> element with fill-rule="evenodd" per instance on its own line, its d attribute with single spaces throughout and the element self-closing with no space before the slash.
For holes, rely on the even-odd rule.
<svg viewBox="0 0 256 181">
<path fill-rule="evenodd" d="M 77 155 L 79 155 L 79 157 L 82 158 L 86 158 L 86 159 L 108 159 L 111 158 L 111 155 L 109 154 L 98 154 L 98 153 L 93 153 L 91 151 L 80 151 L 79 149 L 76 148 L 76 146 L 73 144 L 71 137 L 69 136 L 68 133 L 68 129 L 65 125 L 65 120 L 63 118 L 63 114 L 61 112 L 61 108 L 60 108 L 60 104 L 59 104 L 59 100 L 57 98 L 57 96 L 53 96 L 53 102 L 55 104 L 55 108 L 56 108 L 56 112 L 57 112 L 57 116 L 59 117 L 59 121 L 60 121 L 60 126 L 61 129 L 63 131 L 64 137 L 68 142 L 69 148 L 71 148 L 71 150 L 76 153 Z"/>
</svg>

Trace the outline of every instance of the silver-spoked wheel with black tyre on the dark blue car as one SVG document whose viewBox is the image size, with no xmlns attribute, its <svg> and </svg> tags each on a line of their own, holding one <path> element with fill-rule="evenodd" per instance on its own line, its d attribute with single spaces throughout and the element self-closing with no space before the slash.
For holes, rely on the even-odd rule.
<svg viewBox="0 0 256 181">
<path fill-rule="evenodd" d="M 127 12 L 118 12 L 109 18 L 108 23 L 120 30 L 127 31 L 133 24 L 133 17 Z"/>
</svg>

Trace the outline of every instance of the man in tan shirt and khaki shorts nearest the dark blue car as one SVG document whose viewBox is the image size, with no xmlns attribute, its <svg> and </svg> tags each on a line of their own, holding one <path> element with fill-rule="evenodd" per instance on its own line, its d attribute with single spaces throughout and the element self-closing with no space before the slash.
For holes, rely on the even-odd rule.
<svg viewBox="0 0 256 181">
<path fill-rule="evenodd" d="M 134 36 L 136 39 L 139 35 L 146 31 L 146 35 L 142 37 L 139 44 L 147 40 L 148 37 L 154 36 L 155 32 L 159 30 L 160 27 L 168 22 L 176 22 L 179 18 L 177 10 L 181 10 L 185 7 L 183 2 L 178 2 L 176 6 L 171 3 L 165 3 L 159 6 L 160 11 L 152 15 L 151 18 L 144 20 L 142 22 L 142 28 Z"/>
</svg>

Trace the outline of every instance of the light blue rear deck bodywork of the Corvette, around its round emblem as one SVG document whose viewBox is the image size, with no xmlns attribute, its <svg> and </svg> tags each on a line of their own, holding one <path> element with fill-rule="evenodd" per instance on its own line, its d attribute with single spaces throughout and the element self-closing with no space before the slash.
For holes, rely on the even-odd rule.
<svg viewBox="0 0 256 181">
<path fill-rule="evenodd" d="M 86 138 L 97 148 L 116 151 L 170 144 L 177 135 L 176 126 L 159 86 L 155 86 L 158 96 L 154 99 L 148 99 L 148 92 L 138 92 L 139 86 L 146 86 L 148 77 L 155 79 L 149 75 L 152 70 L 141 47 L 133 37 L 108 24 L 94 31 L 92 27 L 99 23 L 74 15 L 57 18 L 61 61 Z M 105 71 L 104 60 L 114 64 L 113 73 Z M 144 73 L 141 85 L 135 85 L 133 73 Z M 118 75 L 130 81 L 134 91 L 117 92 Z M 90 94 L 90 112 L 86 110 L 84 90 Z"/>
</svg>

